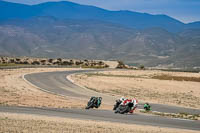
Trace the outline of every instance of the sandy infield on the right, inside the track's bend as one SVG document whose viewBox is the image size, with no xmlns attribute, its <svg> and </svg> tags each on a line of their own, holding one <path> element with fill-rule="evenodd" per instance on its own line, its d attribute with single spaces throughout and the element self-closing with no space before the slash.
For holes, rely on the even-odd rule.
<svg viewBox="0 0 200 133">
<path fill-rule="evenodd" d="M 103 74 L 103 76 L 102 76 Z M 72 75 L 75 83 L 89 89 L 139 101 L 200 108 L 200 82 L 152 79 L 156 75 L 200 77 L 200 73 L 153 70 L 98 72 Z"/>
</svg>

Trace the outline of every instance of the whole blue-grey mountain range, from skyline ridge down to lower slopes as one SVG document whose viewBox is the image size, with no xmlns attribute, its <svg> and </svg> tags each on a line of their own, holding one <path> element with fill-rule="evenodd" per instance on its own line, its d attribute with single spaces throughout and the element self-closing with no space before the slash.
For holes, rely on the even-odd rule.
<svg viewBox="0 0 200 133">
<path fill-rule="evenodd" d="M 0 55 L 194 67 L 200 66 L 200 22 L 71 2 L 0 1 Z"/>
</svg>

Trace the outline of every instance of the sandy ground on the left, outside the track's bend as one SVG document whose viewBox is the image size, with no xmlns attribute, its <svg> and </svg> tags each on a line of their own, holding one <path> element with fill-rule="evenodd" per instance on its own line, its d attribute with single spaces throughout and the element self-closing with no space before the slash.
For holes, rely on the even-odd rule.
<svg viewBox="0 0 200 133">
<path fill-rule="evenodd" d="M 77 100 L 69 97 L 61 97 L 53 94 L 48 94 L 31 86 L 22 79 L 22 75 L 28 73 L 68 70 L 74 69 L 24 68 L 0 70 L 0 105 L 53 108 L 84 108 L 87 101 L 81 100 L 77 102 Z"/>
</svg>

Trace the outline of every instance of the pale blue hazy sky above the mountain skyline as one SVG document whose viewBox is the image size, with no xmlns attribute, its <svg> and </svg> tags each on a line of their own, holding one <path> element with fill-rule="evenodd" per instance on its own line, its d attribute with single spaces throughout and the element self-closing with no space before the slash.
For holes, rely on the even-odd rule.
<svg viewBox="0 0 200 133">
<path fill-rule="evenodd" d="M 65 0 L 4 0 L 23 4 Z M 200 21 L 200 0 L 68 0 L 108 10 L 130 10 L 150 14 L 166 14 L 184 23 Z"/>
</svg>

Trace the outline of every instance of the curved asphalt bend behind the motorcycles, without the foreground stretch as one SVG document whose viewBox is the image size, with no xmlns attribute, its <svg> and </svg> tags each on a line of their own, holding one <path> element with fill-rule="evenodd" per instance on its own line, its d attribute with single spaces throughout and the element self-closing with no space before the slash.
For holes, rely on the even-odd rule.
<svg viewBox="0 0 200 133">
<path fill-rule="evenodd" d="M 27 74 L 24 78 L 39 87 L 43 91 L 51 92 L 57 95 L 72 96 L 82 99 L 89 99 L 91 96 L 103 97 L 103 102 L 113 105 L 117 97 L 108 96 L 92 90 L 81 88 L 66 77 L 71 74 L 85 73 L 85 72 L 96 72 L 99 70 L 75 70 L 75 71 L 62 71 L 62 72 L 45 72 Z M 118 97 L 119 98 L 119 97 Z M 151 104 L 153 111 L 168 112 L 168 113 L 189 113 L 189 114 L 200 114 L 200 110 L 162 105 L 162 104 Z"/>
</svg>

